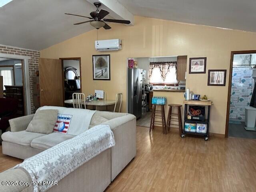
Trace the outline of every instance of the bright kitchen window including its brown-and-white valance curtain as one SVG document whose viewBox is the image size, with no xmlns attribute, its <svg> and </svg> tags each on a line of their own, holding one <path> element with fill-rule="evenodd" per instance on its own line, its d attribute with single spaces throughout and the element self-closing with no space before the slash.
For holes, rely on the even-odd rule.
<svg viewBox="0 0 256 192">
<path fill-rule="evenodd" d="M 151 62 L 149 68 L 150 84 L 172 85 L 177 81 L 177 62 Z"/>
</svg>

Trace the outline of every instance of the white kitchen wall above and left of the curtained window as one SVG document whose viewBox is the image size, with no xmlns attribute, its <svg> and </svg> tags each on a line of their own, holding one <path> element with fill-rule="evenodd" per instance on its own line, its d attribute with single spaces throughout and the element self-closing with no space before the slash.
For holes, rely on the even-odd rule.
<svg viewBox="0 0 256 192">
<path fill-rule="evenodd" d="M 177 61 L 177 57 L 137 57 L 134 58 L 137 61 L 138 68 L 146 70 L 146 79 L 143 83 L 149 84 L 148 72 L 150 62 L 164 62 L 164 61 Z"/>
</svg>

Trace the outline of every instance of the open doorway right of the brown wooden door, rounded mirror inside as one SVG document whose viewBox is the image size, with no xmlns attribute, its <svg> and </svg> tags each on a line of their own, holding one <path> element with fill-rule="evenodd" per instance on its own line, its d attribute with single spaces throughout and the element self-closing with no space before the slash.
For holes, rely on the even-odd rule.
<svg viewBox="0 0 256 192">
<path fill-rule="evenodd" d="M 65 101 L 72 99 L 73 93 L 82 93 L 81 91 L 81 58 L 60 58 L 63 69 L 63 98 Z"/>
</svg>

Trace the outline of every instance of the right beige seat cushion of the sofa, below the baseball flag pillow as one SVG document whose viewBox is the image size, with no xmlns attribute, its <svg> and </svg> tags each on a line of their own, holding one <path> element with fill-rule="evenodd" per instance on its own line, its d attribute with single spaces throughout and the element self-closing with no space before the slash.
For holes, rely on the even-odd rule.
<svg viewBox="0 0 256 192">
<path fill-rule="evenodd" d="M 31 142 L 31 146 L 33 148 L 38 148 L 41 150 L 46 150 L 51 148 L 52 146 L 59 144 L 68 139 L 72 139 L 75 137 L 74 135 L 66 135 L 62 133 L 50 133 L 48 135 L 44 135 L 42 137 L 38 137 L 33 139 Z"/>
</svg>

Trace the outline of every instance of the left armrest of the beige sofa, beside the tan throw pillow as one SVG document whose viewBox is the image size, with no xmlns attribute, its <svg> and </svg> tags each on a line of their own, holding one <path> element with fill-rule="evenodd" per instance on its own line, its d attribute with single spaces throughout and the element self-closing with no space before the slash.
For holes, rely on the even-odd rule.
<svg viewBox="0 0 256 192">
<path fill-rule="evenodd" d="M 9 123 L 10 123 L 11 131 L 16 132 L 16 131 L 26 130 L 28 127 L 28 124 L 33 119 L 33 117 L 34 117 L 34 114 L 10 119 Z"/>
</svg>

